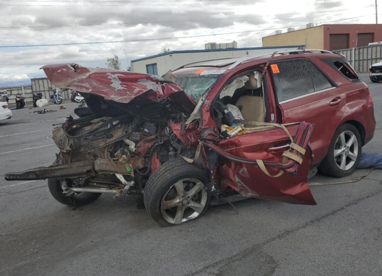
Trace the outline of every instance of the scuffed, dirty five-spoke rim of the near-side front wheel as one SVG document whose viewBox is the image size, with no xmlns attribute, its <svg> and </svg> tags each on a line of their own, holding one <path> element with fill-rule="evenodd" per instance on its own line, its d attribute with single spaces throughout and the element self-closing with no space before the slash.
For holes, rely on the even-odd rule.
<svg viewBox="0 0 382 276">
<path fill-rule="evenodd" d="M 173 184 L 163 196 L 160 212 L 171 224 L 181 224 L 197 218 L 207 203 L 204 184 L 195 178 L 185 178 Z"/>
</svg>

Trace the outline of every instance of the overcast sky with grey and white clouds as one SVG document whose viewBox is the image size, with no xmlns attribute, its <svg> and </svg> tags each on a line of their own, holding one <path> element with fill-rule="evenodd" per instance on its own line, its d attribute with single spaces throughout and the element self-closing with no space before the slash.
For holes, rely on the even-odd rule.
<svg viewBox="0 0 382 276">
<path fill-rule="evenodd" d="M 155 55 L 164 47 L 203 49 L 207 42 L 236 40 L 238 47 L 262 46 L 261 38 L 275 30 L 190 36 L 274 28 L 285 32 L 292 26 L 300 29 L 306 23 L 346 18 L 353 19 L 333 23 L 375 23 L 374 3 L 374 0 L 0 0 L 0 46 L 146 39 L 0 47 L 0 86 L 28 84 L 31 77 L 44 76 L 39 68 L 50 63 L 105 67 L 106 58 L 114 54 L 126 69 L 124 49 L 128 60 L 133 60 Z M 159 38 L 174 39 L 154 40 Z"/>
</svg>

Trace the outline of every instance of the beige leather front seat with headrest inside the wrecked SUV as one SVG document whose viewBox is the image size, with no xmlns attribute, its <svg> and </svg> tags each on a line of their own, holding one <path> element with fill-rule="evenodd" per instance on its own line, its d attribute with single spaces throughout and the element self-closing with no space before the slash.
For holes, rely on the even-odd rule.
<svg viewBox="0 0 382 276">
<path fill-rule="evenodd" d="M 249 80 L 244 84 L 245 89 L 258 89 L 261 82 L 257 81 L 258 74 L 251 74 Z M 243 95 L 235 103 L 241 110 L 241 115 L 247 121 L 265 121 L 264 97 Z M 247 126 L 246 126 L 247 127 Z M 251 126 L 248 126 L 251 127 Z"/>
</svg>

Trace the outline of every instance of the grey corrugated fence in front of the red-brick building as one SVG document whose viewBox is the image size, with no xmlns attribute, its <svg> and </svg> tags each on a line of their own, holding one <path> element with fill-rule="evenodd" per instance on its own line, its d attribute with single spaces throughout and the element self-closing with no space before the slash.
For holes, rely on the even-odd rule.
<svg viewBox="0 0 382 276">
<path fill-rule="evenodd" d="M 382 60 L 382 44 L 335 50 L 333 52 L 345 55 L 357 73 L 369 72 L 370 65 Z"/>
</svg>

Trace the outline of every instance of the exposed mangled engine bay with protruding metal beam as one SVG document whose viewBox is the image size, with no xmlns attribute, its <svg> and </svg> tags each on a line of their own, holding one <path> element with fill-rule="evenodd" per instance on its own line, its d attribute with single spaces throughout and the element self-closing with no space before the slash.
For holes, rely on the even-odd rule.
<svg viewBox="0 0 382 276">
<path fill-rule="evenodd" d="M 181 152 L 191 154 L 171 129 L 171 125 L 181 124 L 184 131 L 190 111 L 176 107 L 172 100 L 136 107 L 139 111 L 134 110 L 134 115 L 106 101 L 101 105 L 102 114 L 108 116 L 70 116 L 53 129 L 52 138 L 60 149 L 55 170 L 24 171 L 17 179 L 62 177 L 67 195 L 86 191 L 81 188 L 142 194 L 149 174 L 161 164 Z"/>
</svg>

